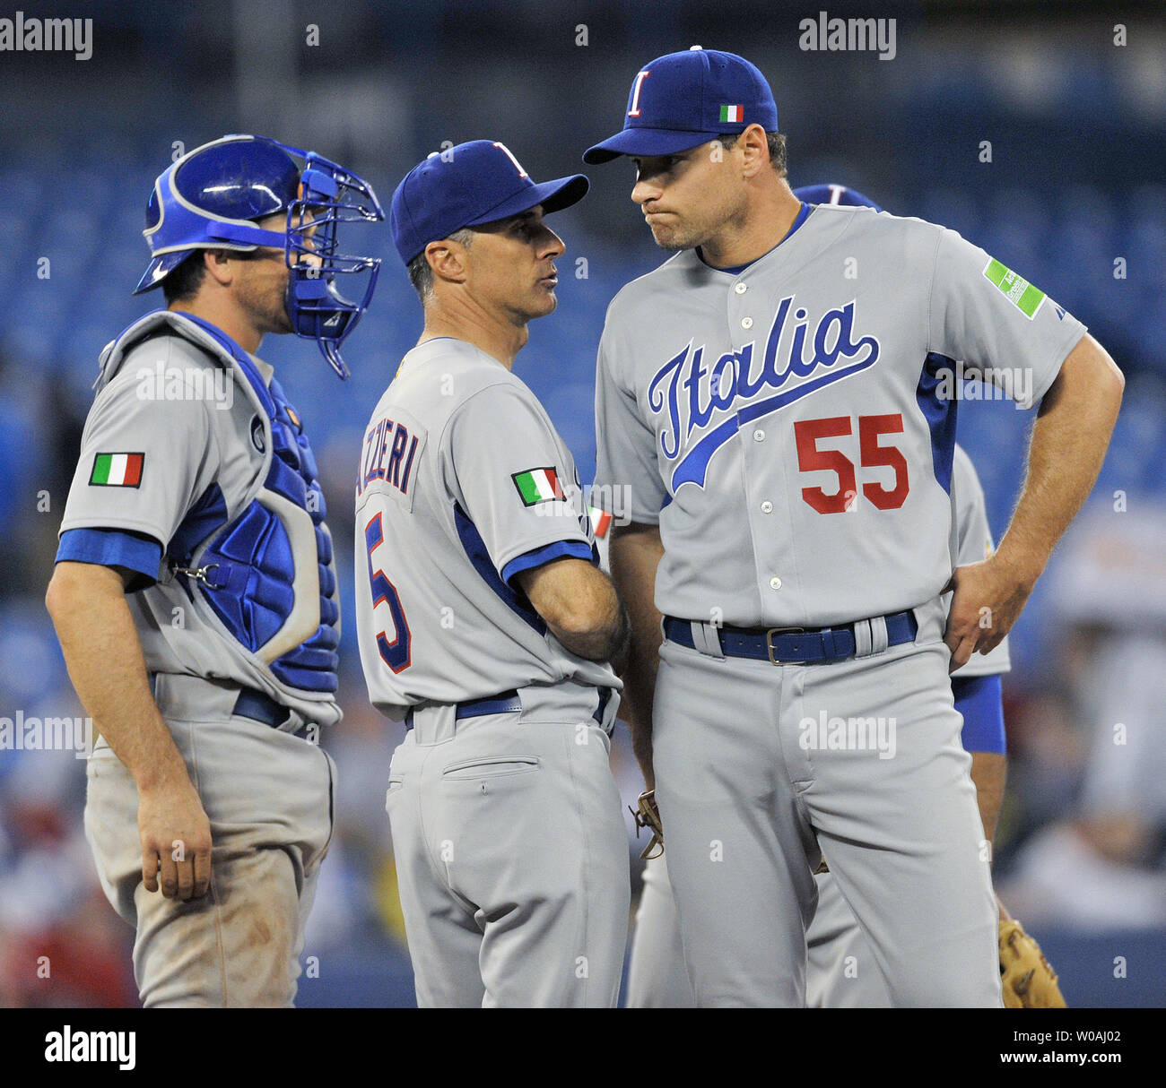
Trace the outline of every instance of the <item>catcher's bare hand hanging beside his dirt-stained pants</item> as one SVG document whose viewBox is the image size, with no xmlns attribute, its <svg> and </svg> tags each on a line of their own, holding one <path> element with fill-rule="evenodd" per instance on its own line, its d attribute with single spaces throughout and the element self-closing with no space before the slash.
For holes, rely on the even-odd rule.
<svg viewBox="0 0 1166 1088">
<path fill-rule="evenodd" d="M 196 899 L 211 882 L 211 821 L 187 780 L 139 793 L 142 883 L 168 899 Z"/>
</svg>

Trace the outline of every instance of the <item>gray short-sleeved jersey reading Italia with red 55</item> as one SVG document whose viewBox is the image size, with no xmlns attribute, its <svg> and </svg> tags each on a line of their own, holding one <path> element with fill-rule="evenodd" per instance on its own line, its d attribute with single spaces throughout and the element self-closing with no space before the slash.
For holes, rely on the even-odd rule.
<svg viewBox="0 0 1166 1088">
<path fill-rule="evenodd" d="M 911 608 L 951 573 L 954 360 L 1027 408 L 1083 333 L 953 231 L 803 206 L 743 269 L 686 250 L 612 301 L 597 494 L 628 486 L 632 520 L 659 523 L 665 614 L 777 627 Z"/>
</svg>

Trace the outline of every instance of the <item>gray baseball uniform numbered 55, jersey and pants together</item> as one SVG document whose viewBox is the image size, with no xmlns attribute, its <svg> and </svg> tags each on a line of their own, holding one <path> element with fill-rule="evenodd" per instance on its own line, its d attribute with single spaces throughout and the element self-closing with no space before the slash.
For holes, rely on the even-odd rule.
<svg viewBox="0 0 1166 1088">
<path fill-rule="evenodd" d="M 999 1006 L 941 638 L 955 415 L 969 369 L 1033 405 L 1082 334 L 954 232 L 830 206 L 747 266 L 684 252 L 612 302 L 597 493 L 627 486 L 632 518 L 659 524 L 656 607 L 693 631 L 661 647 L 652 740 L 697 1004 L 802 1003 L 821 852 L 897 1005 Z M 876 644 L 906 609 L 915 637 Z M 826 664 L 719 637 L 855 621 L 855 656 Z M 845 733 L 871 722 L 883 740 Z M 940 946 L 940 969 L 904 951 Z"/>
</svg>

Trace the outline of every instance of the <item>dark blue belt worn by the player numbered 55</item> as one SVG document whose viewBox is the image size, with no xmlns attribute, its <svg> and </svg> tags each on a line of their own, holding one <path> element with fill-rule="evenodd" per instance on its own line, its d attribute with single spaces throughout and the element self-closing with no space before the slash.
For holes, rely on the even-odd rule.
<svg viewBox="0 0 1166 1088">
<path fill-rule="evenodd" d="M 886 621 L 886 644 L 897 647 L 912 642 L 919 631 L 913 612 L 895 612 L 883 616 Z M 863 621 L 859 621 L 863 622 Z M 855 626 L 841 627 L 771 627 L 716 628 L 721 649 L 726 657 L 749 657 L 774 665 L 814 665 L 822 662 L 844 660 L 855 656 Z M 698 649 L 693 640 L 693 628 L 687 620 L 665 616 L 663 634 L 669 642 Z"/>
</svg>

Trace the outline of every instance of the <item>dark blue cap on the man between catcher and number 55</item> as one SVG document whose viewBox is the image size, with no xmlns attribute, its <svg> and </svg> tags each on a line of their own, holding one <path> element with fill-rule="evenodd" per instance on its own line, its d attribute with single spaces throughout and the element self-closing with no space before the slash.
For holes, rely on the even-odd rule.
<svg viewBox="0 0 1166 1088">
<path fill-rule="evenodd" d="M 536 185 L 497 140 L 471 140 L 434 151 L 393 193 L 388 225 L 401 260 L 409 263 L 429 242 L 463 227 L 496 222 L 542 205 L 546 213 L 577 204 L 591 183 L 582 175 Z"/>
</svg>

